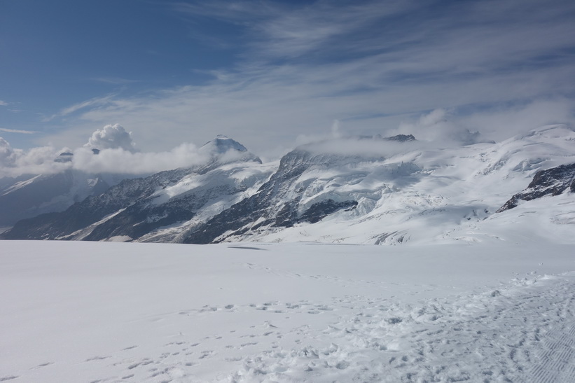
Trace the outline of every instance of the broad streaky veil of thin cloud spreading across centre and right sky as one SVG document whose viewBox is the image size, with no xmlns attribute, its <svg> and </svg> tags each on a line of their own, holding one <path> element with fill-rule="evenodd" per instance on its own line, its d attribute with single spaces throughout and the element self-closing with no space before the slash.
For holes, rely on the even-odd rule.
<svg viewBox="0 0 575 383">
<path fill-rule="evenodd" d="M 201 143 L 223 133 L 273 156 L 302 134 L 328 133 L 333 120 L 347 132 L 377 134 L 448 109 L 457 123 L 495 139 L 534 123 L 574 121 L 575 89 L 567 81 L 575 78 L 572 1 L 216 0 L 170 7 L 192 29 L 198 20 L 230 25 L 242 48 L 235 64 L 214 69 L 209 83 L 70 106 L 59 116 L 74 117 L 74 131 L 120 122 L 141 148 L 165 150 L 181 137 Z M 537 118 L 527 117 L 534 111 Z M 71 130 L 50 139 L 66 134 Z"/>
</svg>

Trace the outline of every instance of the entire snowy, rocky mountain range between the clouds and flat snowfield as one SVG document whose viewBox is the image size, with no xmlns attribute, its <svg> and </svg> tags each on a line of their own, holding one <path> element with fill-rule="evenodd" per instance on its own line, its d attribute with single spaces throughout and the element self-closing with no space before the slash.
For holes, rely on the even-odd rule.
<svg viewBox="0 0 575 383">
<path fill-rule="evenodd" d="M 331 139 L 263 164 L 217 137 L 200 149 L 210 153 L 204 165 L 126 179 L 65 211 L 19 221 L 1 237 L 195 244 L 572 237 L 571 128 L 455 147 L 416 138 Z"/>
</svg>

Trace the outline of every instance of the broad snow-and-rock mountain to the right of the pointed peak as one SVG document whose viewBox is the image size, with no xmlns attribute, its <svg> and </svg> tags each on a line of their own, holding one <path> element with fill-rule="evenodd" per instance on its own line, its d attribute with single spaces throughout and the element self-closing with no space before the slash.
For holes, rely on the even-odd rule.
<svg viewBox="0 0 575 383">
<path fill-rule="evenodd" d="M 538 170 L 575 162 L 574 142 L 575 132 L 553 125 L 498 144 L 456 148 L 354 139 L 303 146 L 282 158 L 256 195 L 215 216 L 185 242 L 399 244 L 513 237 L 509 232 L 519 226 L 500 223 L 518 212 L 495 211 Z M 515 217 L 529 222 L 522 234 L 562 237 L 572 230 L 557 226 L 557 214 L 575 211 L 573 194 L 564 198 L 560 209 L 550 200 L 540 204 L 537 213 L 546 217 L 541 221 Z"/>
</svg>

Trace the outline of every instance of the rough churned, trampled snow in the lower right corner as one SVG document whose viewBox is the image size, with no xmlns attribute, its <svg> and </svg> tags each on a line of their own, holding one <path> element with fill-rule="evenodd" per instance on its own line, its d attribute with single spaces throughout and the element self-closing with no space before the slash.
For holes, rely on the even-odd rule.
<svg viewBox="0 0 575 383">
<path fill-rule="evenodd" d="M 417 307 L 347 297 L 356 314 L 308 338 L 315 346 L 249 356 L 225 381 L 573 382 L 574 291 L 567 273 Z"/>
</svg>

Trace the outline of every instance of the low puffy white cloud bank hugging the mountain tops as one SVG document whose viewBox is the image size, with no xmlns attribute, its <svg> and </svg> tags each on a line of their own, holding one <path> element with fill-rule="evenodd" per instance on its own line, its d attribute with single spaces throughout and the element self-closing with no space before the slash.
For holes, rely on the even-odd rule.
<svg viewBox="0 0 575 383">
<path fill-rule="evenodd" d="M 416 148 L 448 148 L 453 146 L 476 144 L 491 141 L 489 134 L 483 134 L 469 127 L 476 126 L 470 123 L 474 118 L 478 123 L 489 127 L 495 124 L 508 124 L 508 131 L 527 131 L 533 123 L 544 125 L 539 112 L 541 105 L 528 106 L 518 110 L 518 115 L 525 113 L 522 120 L 515 116 L 508 116 L 508 112 L 501 113 L 497 118 L 485 116 L 472 116 L 468 120 L 458 119 L 450 111 L 435 109 L 422 114 L 410 122 L 400 123 L 394 129 L 382 130 L 377 136 L 392 136 L 396 134 L 413 134 L 417 141 L 397 146 L 394 142 L 381 140 L 359 139 L 361 135 L 354 130 L 345 129 L 338 120 L 333 121 L 331 127 L 320 134 L 300 134 L 295 146 L 303 145 L 305 150 L 323 153 L 340 153 L 342 155 L 386 156 L 397 154 L 400 151 L 410 151 Z M 546 106 L 549 108 L 549 106 Z M 553 111 L 553 108 L 550 108 Z M 557 110 L 555 110 L 557 112 Z M 538 118 L 539 117 L 539 118 Z M 527 120 L 530 118 L 531 120 Z M 513 124 L 519 124 L 514 126 Z M 214 134 L 215 136 L 215 134 Z M 374 135 L 375 136 L 375 135 Z M 190 167 L 206 163 L 212 158 L 216 149 L 204 146 L 203 148 L 191 143 L 181 144 L 167 151 L 141 151 L 136 145 L 134 134 L 125 130 L 122 125 L 105 125 L 92 132 L 88 142 L 77 148 L 57 148 L 55 146 L 41 146 L 22 150 L 13 148 L 6 139 L 0 137 L 0 178 L 3 176 L 20 176 L 22 174 L 54 174 L 67 169 L 76 169 L 92 174 L 152 174 L 162 170 Z M 350 140 L 357 137 L 357 140 Z M 368 136 L 371 137 L 371 136 Z M 212 136 L 212 139 L 214 137 Z M 243 137 L 234 137 L 243 141 Z M 504 137 L 508 138 L 508 137 Z M 271 143 L 273 145 L 273 143 Z M 97 149 L 94 151 L 93 149 Z M 251 148 L 249 148 L 250 151 Z M 257 151 L 252 151 L 259 155 Z M 64 154 L 62 154 L 64 153 Z M 68 153 L 68 154 L 67 154 Z M 69 155 L 71 153 L 71 155 Z M 277 151 L 275 160 L 285 152 Z M 268 158 L 269 160 L 269 158 Z"/>
</svg>

